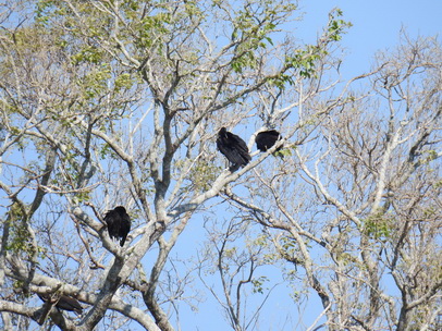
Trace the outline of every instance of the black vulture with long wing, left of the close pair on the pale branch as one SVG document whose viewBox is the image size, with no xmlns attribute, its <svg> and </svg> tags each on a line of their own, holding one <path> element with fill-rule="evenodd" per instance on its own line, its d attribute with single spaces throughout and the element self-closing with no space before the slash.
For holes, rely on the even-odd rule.
<svg viewBox="0 0 442 331">
<path fill-rule="evenodd" d="M 229 170 L 232 172 L 251 160 L 246 143 L 237 135 L 226 131 L 225 127 L 221 127 L 218 133 L 217 147 L 228 158 Z"/>
</svg>

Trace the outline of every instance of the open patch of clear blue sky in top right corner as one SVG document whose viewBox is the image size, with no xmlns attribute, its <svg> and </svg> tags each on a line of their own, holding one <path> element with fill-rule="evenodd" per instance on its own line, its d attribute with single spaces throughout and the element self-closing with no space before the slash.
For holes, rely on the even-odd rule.
<svg viewBox="0 0 442 331">
<path fill-rule="evenodd" d="M 343 10 L 345 21 L 353 23 L 342 40 L 346 78 L 368 71 L 378 50 L 393 49 L 402 27 L 410 37 L 442 32 L 441 0 L 305 0 L 299 2 L 305 12 L 304 21 L 297 24 L 299 37 L 312 42 L 335 7 Z"/>
</svg>

